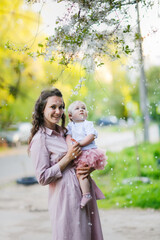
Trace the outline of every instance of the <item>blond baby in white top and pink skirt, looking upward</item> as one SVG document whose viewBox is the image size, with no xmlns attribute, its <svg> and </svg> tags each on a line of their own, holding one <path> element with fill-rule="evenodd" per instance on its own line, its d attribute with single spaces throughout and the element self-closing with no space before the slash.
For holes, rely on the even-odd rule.
<svg viewBox="0 0 160 240">
<path fill-rule="evenodd" d="M 67 126 L 68 132 L 66 141 L 67 144 L 72 144 L 74 141 L 79 142 L 82 147 L 82 154 L 75 158 L 76 167 L 89 166 L 94 169 L 104 169 L 107 164 L 106 155 L 100 149 L 97 149 L 94 139 L 97 137 L 97 131 L 94 128 L 93 122 L 87 121 L 87 108 L 85 103 L 75 101 L 68 107 L 68 116 L 71 120 Z M 81 208 L 92 199 L 90 193 L 90 182 L 88 178 L 83 179 L 83 175 L 78 176 L 80 187 L 82 190 Z"/>
</svg>

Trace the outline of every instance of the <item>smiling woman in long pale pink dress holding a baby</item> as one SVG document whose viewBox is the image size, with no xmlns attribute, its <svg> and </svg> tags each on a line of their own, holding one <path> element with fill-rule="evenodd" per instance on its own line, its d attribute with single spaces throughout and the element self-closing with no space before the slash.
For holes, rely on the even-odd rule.
<svg viewBox="0 0 160 240">
<path fill-rule="evenodd" d="M 62 120 L 61 127 L 58 125 Z M 103 194 L 91 180 L 93 199 L 81 210 L 81 190 L 73 159 L 81 154 L 78 143 L 65 141 L 64 101 L 58 89 L 41 92 L 35 104 L 29 139 L 31 158 L 41 185 L 49 186 L 49 213 L 53 240 L 103 240 L 96 198 Z M 88 177 L 92 169 L 83 167 L 77 174 Z"/>
</svg>

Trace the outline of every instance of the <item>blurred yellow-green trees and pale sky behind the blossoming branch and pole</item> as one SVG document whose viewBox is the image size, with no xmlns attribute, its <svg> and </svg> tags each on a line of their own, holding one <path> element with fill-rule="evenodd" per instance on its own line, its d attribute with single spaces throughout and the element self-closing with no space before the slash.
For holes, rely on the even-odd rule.
<svg viewBox="0 0 160 240">
<path fill-rule="evenodd" d="M 97 125 L 141 124 L 138 48 L 131 56 L 123 54 L 115 61 L 104 56 L 103 65 L 89 73 L 81 62 L 64 68 L 58 61 L 38 58 L 37 52 L 40 55 L 44 39 L 53 34 L 56 16 L 62 15 L 64 6 L 55 1 L 26 2 L 3 0 L 0 3 L 0 130 L 31 122 L 40 91 L 53 86 L 62 90 L 66 109 L 75 99 L 85 101 L 89 119 Z M 158 11 L 152 7 L 141 19 L 147 108 L 150 122 L 156 124 L 160 121 Z M 132 31 L 136 27 L 137 24 Z"/>
</svg>

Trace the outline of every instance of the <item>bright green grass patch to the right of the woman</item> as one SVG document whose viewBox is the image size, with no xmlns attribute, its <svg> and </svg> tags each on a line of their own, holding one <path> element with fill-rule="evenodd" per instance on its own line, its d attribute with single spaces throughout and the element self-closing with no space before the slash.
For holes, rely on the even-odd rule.
<svg viewBox="0 0 160 240">
<path fill-rule="evenodd" d="M 98 201 L 100 208 L 140 207 L 160 209 L 160 166 L 157 164 L 160 143 L 143 143 L 121 152 L 108 152 L 108 164 L 104 170 L 93 172 L 93 179 L 106 199 Z M 147 177 L 150 183 L 134 182 L 139 174 Z M 130 179 L 123 184 L 124 179 Z"/>
</svg>

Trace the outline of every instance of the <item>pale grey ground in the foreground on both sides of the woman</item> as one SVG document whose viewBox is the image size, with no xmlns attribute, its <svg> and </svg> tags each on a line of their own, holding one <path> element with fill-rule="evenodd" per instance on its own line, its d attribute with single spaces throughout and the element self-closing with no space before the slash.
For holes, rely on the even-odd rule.
<svg viewBox="0 0 160 240">
<path fill-rule="evenodd" d="M 1 185 L 0 216 L 0 239 L 51 240 L 47 187 L 14 182 Z M 100 210 L 100 218 L 104 240 L 160 239 L 160 211 Z"/>
</svg>

